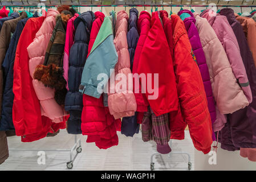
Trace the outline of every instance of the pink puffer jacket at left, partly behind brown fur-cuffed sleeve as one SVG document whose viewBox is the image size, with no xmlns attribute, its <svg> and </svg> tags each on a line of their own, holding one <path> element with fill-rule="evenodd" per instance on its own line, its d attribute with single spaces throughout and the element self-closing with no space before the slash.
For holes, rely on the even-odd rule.
<svg viewBox="0 0 256 182">
<path fill-rule="evenodd" d="M 30 76 L 33 78 L 35 68 L 39 64 L 43 64 L 46 48 L 50 41 L 52 31 L 55 26 L 55 15 L 59 14 L 58 11 L 49 9 L 47 17 L 44 20 L 42 27 L 35 35 L 33 42 L 27 47 L 29 53 L 29 71 Z M 67 115 L 64 107 L 58 105 L 54 99 L 55 90 L 43 85 L 42 82 L 33 78 L 32 84 L 35 89 L 36 96 L 40 101 L 41 115 L 52 119 L 52 122 L 58 123 L 63 121 L 63 116 Z"/>
</svg>

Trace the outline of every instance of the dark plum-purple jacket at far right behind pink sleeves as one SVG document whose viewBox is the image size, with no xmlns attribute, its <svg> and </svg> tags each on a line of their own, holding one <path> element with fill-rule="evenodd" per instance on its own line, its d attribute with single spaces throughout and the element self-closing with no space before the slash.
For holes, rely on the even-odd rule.
<svg viewBox="0 0 256 182">
<path fill-rule="evenodd" d="M 253 101 L 243 109 L 227 115 L 227 123 L 220 131 L 221 148 L 234 151 L 242 148 L 256 147 L 256 69 L 253 56 L 243 33 L 241 24 L 235 19 L 232 9 L 222 9 L 221 15 L 226 16 L 237 38 L 240 54 L 245 65 L 246 74 L 250 83 Z"/>
</svg>

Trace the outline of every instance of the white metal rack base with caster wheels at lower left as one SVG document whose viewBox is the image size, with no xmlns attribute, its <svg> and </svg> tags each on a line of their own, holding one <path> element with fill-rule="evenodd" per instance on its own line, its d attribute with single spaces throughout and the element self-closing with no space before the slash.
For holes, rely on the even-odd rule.
<svg viewBox="0 0 256 182">
<path fill-rule="evenodd" d="M 73 152 L 76 150 L 76 154 L 73 155 Z M 48 149 L 21 149 L 21 148 L 9 148 L 9 151 L 47 151 L 47 152 L 70 152 L 70 160 L 66 163 L 68 169 L 73 168 L 73 163 L 76 159 L 76 156 L 82 152 L 81 146 L 81 139 L 75 135 L 75 143 L 70 149 L 55 149 L 55 150 L 48 150 Z"/>
</svg>

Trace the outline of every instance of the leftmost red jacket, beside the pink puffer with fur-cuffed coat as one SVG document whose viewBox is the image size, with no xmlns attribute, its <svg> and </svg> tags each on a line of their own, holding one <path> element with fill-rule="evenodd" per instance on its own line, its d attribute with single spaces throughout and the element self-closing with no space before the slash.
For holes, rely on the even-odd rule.
<svg viewBox="0 0 256 182">
<path fill-rule="evenodd" d="M 32 142 L 66 128 L 66 123 L 52 123 L 51 119 L 41 116 L 40 103 L 36 97 L 29 72 L 27 47 L 35 38 L 36 32 L 46 16 L 30 18 L 19 38 L 14 61 L 13 79 L 13 123 L 16 135 L 23 136 L 22 142 Z"/>
</svg>

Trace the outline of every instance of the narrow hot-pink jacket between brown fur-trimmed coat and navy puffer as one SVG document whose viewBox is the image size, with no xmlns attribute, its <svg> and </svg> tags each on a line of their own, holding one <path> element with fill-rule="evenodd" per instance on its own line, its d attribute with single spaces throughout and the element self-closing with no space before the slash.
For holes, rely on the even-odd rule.
<svg viewBox="0 0 256 182">
<path fill-rule="evenodd" d="M 67 31 L 66 31 L 66 41 L 64 47 L 64 58 L 63 58 L 63 76 L 67 81 L 66 88 L 68 90 L 68 59 L 70 57 L 70 48 L 74 44 L 74 35 L 75 35 L 75 27 L 74 27 L 74 20 L 78 17 L 79 14 L 75 14 L 67 23 Z"/>
</svg>

